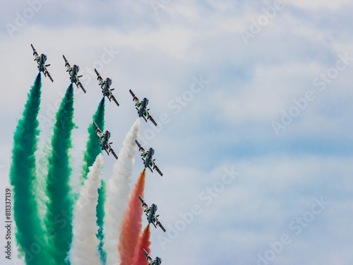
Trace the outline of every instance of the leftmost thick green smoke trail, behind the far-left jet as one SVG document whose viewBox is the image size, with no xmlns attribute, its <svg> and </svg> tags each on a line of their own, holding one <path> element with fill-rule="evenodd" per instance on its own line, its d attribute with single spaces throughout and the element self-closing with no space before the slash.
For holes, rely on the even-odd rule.
<svg viewBox="0 0 353 265">
<path fill-rule="evenodd" d="M 13 217 L 16 222 L 16 241 L 19 254 L 27 265 L 52 264 L 46 245 L 46 236 L 40 225 L 37 203 L 33 194 L 35 181 L 35 150 L 37 148 L 37 114 L 40 110 L 41 76 L 38 73 L 28 93 L 23 117 L 13 137 L 10 182 L 13 186 Z M 44 243 L 43 243 L 44 242 Z M 38 247 L 41 251 L 38 252 Z"/>
</svg>

